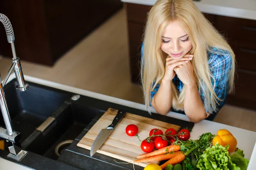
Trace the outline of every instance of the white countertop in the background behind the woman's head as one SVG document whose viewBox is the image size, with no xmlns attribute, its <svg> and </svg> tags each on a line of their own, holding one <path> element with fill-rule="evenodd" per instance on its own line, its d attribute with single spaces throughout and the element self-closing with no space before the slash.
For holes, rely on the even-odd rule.
<svg viewBox="0 0 256 170">
<path fill-rule="evenodd" d="M 121 1 L 153 6 L 157 0 Z M 256 20 L 256 0 L 200 0 L 194 3 L 204 13 Z"/>
</svg>

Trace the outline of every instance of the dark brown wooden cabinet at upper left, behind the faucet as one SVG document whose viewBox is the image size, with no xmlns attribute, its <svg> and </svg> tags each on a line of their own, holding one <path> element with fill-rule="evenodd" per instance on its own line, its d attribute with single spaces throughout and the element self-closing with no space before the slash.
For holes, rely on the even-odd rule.
<svg viewBox="0 0 256 170">
<path fill-rule="evenodd" d="M 121 0 L 0 0 L 0 13 L 12 23 L 17 57 L 53 65 L 122 4 Z M 12 57 L 3 26 L 0 55 Z"/>
</svg>

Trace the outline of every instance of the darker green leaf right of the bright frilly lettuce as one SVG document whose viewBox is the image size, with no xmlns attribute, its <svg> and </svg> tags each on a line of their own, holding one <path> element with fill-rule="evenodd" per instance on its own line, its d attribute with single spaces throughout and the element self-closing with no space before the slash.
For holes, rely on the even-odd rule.
<svg viewBox="0 0 256 170">
<path fill-rule="evenodd" d="M 244 158 L 244 151 L 237 150 L 233 155 L 230 156 L 231 161 L 236 164 L 237 167 L 240 167 L 241 170 L 246 170 L 249 164 L 249 159 Z"/>
</svg>

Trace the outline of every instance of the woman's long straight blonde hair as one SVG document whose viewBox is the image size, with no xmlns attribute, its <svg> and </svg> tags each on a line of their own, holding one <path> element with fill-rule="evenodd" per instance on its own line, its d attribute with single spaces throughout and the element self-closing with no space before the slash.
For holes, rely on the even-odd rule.
<svg viewBox="0 0 256 170">
<path fill-rule="evenodd" d="M 217 111 L 218 100 L 222 99 L 215 94 L 215 84 L 212 85 L 211 79 L 214 77 L 209 70 L 207 51 L 216 54 L 216 51 L 212 50 L 212 47 L 215 47 L 220 49 L 218 54 L 229 53 L 232 68 L 229 72 L 228 93 L 234 89 L 235 54 L 225 38 L 204 17 L 192 0 L 157 0 L 149 11 L 143 34 L 144 49 L 141 64 L 141 81 L 146 108 L 150 112 L 150 92 L 158 83 L 161 83 L 165 74 L 167 54 L 160 48 L 161 36 L 172 20 L 180 22 L 192 42 L 189 53 L 194 54 L 192 65 L 198 89 L 204 94 L 204 108 L 208 113 Z M 172 82 L 172 108 L 177 111 L 184 110 L 184 96 L 184 90 L 182 89 L 179 94 Z"/>
</svg>

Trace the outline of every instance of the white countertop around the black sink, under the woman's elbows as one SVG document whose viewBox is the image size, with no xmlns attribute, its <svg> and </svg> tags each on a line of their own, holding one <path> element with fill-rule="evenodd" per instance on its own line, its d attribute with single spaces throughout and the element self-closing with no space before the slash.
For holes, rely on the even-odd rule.
<svg viewBox="0 0 256 170">
<path fill-rule="evenodd" d="M 15 74 L 11 74 L 11 76 L 8 79 L 8 82 L 14 78 L 15 78 Z M 69 91 L 74 94 L 89 96 L 89 97 L 93 97 L 96 99 L 113 102 L 113 103 L 116 103 L 119 105 L 125 105 L 128 107 L 145 110 L 145 105 L 142 105 L 139 103 L 135 103 L 135 102 L 131 102 L 131 101 L 123 100 L 123 99 L 118 99 L 115 97 L 106 96 L 103 94 L 98 94 L 95 92 L 86 91 L 86 90 L 82 90 L 79 88 L 73 88 L 73 87 L 70 87 L 67 85 L 62 85 L 62 84 L 58 84 L 55 82 L 50 82 L 47 80 L 38 79 L 35 77 L 26 76 L 26 75 L 24 75 L 24 78 L 26 81 L 29 81 L 29 82 L 34 82 L 34 83 L 45 85 L 48 87 L 57 88 L 57 89 L 61 89 L 64 91 Z M 156 113 L 154 108 L 151 108 L 151 111 Z M 186 115 L 183 115 L 180 113 L 169 112 L 167 114 L 167 116 L 189 121 L 189 119 Z M 255 167 L 253 167 L 254 165 L 252 163 L 256 162 L 256 132 L 253 132 L 250 130 L 244 130 L 244 129 L 241 129 L 238 127 L 224 125 L 224 124 L 220 124 L 220 123 L 216 123 L 216 122 L 212 122 L 212 121 L 208 121 L 208 120 L 202 120 L 199 123 L 195 123 L 195 126 L 192 129 L 191 139 L 198 139 L 198 136 L 200 136 L 202 133 L 210 132 L 210 133 L 216 134 L 219 129 L 227 129 L 233 134 L 233 136 L 236 137 L 237 143 L 238 143 L 237 147 L 239 147 L 239 149 L 241 149 L 241 150 L 244 150 L 245 158 L 247 158 L 247 159 L 251 158 L 250 164 L 249 164 L 249 166 L 251 166 L 251 167 L 248 166 L 247 170 L 255 170 Z M 254 150 L 253 150 L 253 148 L 254 148 Z M 253 155 L 252 155 L 252 152 L 253 152 Z M 0 167 L 4 166 L 4 164 L 14 164 L 14 166 L 11 169 L 12 170 L 15 170 L 15 169 L 20 170 L 20 168 L 18 168 L 18 167 L 15 168 L 15 166 L 17 164 L 12 163 L 11 161 L 6 161 L 6 160 L 3 161 L 3 159 L 0 158 Z M 8 167 L 10 167 L 10 165 L 8 165 Z"/>
</svg>

